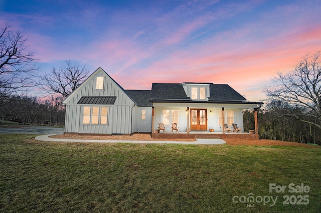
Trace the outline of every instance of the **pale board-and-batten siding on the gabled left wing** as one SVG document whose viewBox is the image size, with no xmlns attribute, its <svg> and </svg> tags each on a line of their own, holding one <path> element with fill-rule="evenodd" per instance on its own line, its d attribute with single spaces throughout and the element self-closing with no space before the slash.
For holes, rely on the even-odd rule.
<svg viewBox="0 0 321 213">
<path fill-rule="evenodd" d="M 96 89 L 96 78 L 104 77 L 103 89 Z M 113 105 L 77 104 L 82 96 L 116 96 Z M 90 134 L 130 134 L 133 100 L 123 89 L 100 67 L 94 71 L 65 100 L 65 132 Z M 83 108 L 108 107 L 107 125 L 83 124 Z"/>
</svg>

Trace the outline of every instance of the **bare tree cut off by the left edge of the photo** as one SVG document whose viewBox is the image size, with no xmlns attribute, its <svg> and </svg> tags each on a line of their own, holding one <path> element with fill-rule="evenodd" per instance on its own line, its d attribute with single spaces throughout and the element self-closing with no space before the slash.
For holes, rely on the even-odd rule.
<svg viewBox="0 0 321 213">
<path fill-rule="evenodd" d="M 35 86 L 37 60 L 27 50 L 27 38 L 7 24 L 0 30 L 0 105 L 13 93 Z"/>
</svg>

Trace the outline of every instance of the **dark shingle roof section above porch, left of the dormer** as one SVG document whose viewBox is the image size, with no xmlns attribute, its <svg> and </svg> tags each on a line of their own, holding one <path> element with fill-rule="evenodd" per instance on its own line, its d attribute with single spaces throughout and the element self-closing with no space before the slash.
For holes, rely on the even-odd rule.
<svg viewBox="0 0 321 213">
<path fill-rule="evenodd" d="M 154 99 L 190 99 L 180 83 L 152 83 L 150 97 Z"/>
</svg>

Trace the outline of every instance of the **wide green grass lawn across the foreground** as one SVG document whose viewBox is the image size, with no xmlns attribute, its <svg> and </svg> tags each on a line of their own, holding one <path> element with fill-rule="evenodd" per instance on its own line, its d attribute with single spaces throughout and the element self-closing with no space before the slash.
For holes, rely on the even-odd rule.
<svg viewBox="0 0 321 213">
<path fill-rule="evenodd" d="M 0 134 L 1 212 L 321 211 L 320 147 L 67 143 L 35 136 Z M 269 192 L 270 183 L 286 188 Z M 289 192 L 290 183 L 309 190 Z M 251 196 L 254 202 L 247 202 Z"/>
</svg>

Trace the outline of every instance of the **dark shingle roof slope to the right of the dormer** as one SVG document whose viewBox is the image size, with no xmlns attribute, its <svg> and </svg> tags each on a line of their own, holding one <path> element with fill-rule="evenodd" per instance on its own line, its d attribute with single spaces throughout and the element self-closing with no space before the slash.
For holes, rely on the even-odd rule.
<svg viewBox="0 0 321 213">
<path fill-rule="evenodd" d="M 246 100 L 228 84 L 211 84 L 210 100 Z"/>
</svg>

